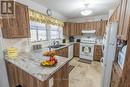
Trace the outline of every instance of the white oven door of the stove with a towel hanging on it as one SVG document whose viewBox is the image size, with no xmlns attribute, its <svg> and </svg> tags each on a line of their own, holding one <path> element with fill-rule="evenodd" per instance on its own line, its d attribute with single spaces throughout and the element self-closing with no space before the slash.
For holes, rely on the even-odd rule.
<svg viewBox="0 0 130 87">
<path fill-rule="evenodd" d="M 94 44 L 80 44 L 80 58 L 93 60 Z"/>
</svg>

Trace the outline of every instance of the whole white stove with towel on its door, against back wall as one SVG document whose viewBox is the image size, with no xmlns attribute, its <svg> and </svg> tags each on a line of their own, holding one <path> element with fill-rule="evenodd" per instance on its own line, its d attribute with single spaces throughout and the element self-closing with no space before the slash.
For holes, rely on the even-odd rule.
<svg viewBox="0 0 130 87">
<path fill-rule="evenodd" d="M 81 38 L 80 59 L 93 61 L 95 43 L 96 43 L 96 38 Z"/>
</svg>

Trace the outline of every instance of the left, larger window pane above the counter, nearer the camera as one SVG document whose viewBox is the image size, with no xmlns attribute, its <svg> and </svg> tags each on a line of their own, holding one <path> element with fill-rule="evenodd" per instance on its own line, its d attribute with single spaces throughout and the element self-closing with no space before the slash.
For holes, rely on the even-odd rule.
<svg viewBox="0 0 130 87">
<path fill-rule="evenodd" d="M 45 24 L 31 22 L 30 28 L 32 42 L 47 40 L 47 29 Z"/>
</svg>

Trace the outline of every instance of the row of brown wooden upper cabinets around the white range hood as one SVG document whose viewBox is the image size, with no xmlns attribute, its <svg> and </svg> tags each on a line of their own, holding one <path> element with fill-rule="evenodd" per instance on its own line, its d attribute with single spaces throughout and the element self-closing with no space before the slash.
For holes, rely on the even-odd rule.
<svg viewBox="0 0 130 87">
<path fill-rule="evenodd" d="M 81 36 L 82 30 L 96 30 L 97 36 L 103 36 L 107 21 L 86 22 L 86 23 L 67 23 L 65 22 L 63 34 L 65 36 Z"/>
</svg>

